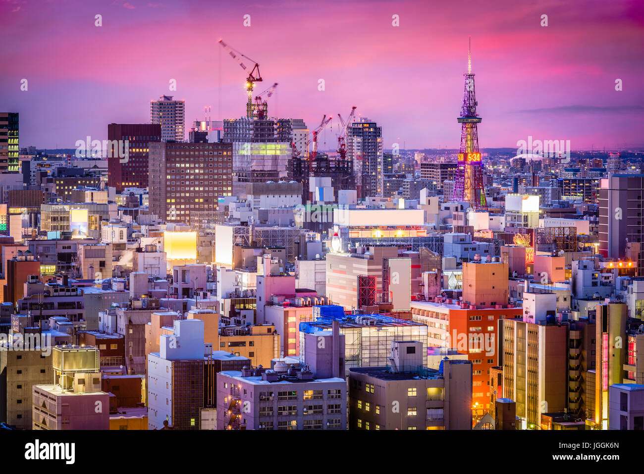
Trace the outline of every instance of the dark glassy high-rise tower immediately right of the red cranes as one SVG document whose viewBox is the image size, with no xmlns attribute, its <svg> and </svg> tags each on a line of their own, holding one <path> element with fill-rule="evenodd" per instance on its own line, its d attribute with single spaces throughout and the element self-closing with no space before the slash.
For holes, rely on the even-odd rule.
<svg viewBox="0 0 644 474">
<path fill-rule="evenodd" d="M 383 130 L 361 118 L 346 129 L 346 157 L 353 161 L 359 197 L 383 194 Z"/>
</svg>

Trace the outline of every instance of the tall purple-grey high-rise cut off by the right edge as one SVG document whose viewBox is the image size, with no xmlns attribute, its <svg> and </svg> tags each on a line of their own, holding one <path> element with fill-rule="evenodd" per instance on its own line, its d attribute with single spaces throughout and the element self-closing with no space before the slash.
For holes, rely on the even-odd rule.
<svg viewBox="0 0 644 474">
<path fill-rule="evenodd" d="M 627 244 L 644 234 L 644 175 L 601 178 L 599 194 L 600 254 L 624 258 Z"/>
</svg>

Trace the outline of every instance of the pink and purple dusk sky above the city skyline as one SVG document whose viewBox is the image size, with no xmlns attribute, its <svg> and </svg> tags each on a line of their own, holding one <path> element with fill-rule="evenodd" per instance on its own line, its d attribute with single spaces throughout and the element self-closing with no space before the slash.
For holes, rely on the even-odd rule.
<svg viewBox="0 0 644 474">
<path fill-rule="evenodd" d="M 185 100 L 187 128 L 204 106 L 215 120 L 241 117 L 245 75 L 221 37 L 260 62 L 257 92 L 279 82 L 270 115 L 314 128 L 355 105 L 383 127 L 385 148 L 457 148 L 468 35 L 481 147 L 529 135 L 644 146 L 641 1 L 0 0 L 0 111 L 21 113 L 21 146 L 49 148 L 145 123 L 162 94 Z M 335 144 L 332 123 L 320 149 Z"/>
</svg>

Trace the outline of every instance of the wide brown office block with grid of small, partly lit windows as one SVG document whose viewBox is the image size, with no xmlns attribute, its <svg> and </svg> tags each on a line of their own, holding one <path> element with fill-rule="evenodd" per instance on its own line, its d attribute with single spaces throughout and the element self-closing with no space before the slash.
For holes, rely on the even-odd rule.
<svg viewBox="0 0 644 474">
<path fill-rule="evenodd" d="M 232 193 L 232 144 L 150 144 L 150 211 L 166 222 L 188 222 L 190 213 L 215 213 Z"/>
</svg>

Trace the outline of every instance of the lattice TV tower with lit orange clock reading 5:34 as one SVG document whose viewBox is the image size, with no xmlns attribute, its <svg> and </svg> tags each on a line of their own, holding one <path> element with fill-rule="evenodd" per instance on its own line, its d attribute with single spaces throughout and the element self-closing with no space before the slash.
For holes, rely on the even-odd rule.
<svg viewBox="0 0 644 474">
<path fill-rule="evenodd" d="M 477 124 L 482 120 L 477 115 L 477 99 L 472 73 L 471 38 L 468 50 L 468 73 L 465 76 L 465 91 L 460 109 L 459 169 L 454 184 L 454 200 L 469 202 L 470 207 L 486 211 L 488 202 L 483 187 L 483 163 L 478 151 Z"/>
</svg>

